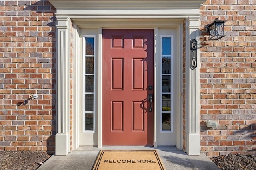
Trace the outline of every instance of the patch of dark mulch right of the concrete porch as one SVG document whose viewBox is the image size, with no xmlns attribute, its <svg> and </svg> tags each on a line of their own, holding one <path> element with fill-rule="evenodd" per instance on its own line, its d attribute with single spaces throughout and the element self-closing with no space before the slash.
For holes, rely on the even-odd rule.
<svg viewBox="0 0 256 170">
<path fill-rule="evenodd" d="M 222 170 L 256 170 L 256 156 L 252 155 L 221 155 L 211 158 Z"/>
</svg>

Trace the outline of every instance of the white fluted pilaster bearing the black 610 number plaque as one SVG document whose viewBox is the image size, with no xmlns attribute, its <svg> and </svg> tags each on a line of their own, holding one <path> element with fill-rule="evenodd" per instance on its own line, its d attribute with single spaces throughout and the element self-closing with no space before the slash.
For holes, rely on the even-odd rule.
<svg viewBox="0 0 256 170">
<path fill-rule="evenodd" d="M 190 40 L 197 41 L 197 68 L 191 69 Z M 188 155 L 200 155 L 199 131 L 199 17 L 186 18 L 186 152 Z"/>
</svg>

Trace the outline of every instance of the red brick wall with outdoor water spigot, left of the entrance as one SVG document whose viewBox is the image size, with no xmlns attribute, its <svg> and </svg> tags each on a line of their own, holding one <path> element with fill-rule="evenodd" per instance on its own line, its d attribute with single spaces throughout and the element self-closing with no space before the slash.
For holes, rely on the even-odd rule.
<svg viewBox="0 0 256 170">
<path fill-rule="evenodd" d="M 55 12 L 47 0 L 0 1 L 0 150 L 55 149 Z"/>
</svg>

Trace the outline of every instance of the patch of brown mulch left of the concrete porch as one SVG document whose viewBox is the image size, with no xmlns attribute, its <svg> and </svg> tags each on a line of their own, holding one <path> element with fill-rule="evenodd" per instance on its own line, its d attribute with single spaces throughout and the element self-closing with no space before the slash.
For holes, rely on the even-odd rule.
<svg viewBox="0 0 256 170">
<path fill-rule="evenodd" d="M 46 152 L 0 151 L 0 169 L 36 170 L 50 157 Z"/>
</svg>

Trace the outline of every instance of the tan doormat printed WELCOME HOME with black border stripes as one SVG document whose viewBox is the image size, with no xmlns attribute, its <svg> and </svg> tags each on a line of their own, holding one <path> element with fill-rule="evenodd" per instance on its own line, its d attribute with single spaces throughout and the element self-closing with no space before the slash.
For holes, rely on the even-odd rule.
<svg viewBox="0 0 256 170">
<path fill-rule="evenodd" d="M 100 150 L 93 170 L 165 170 L 156 150 Z"/>
</svg>

